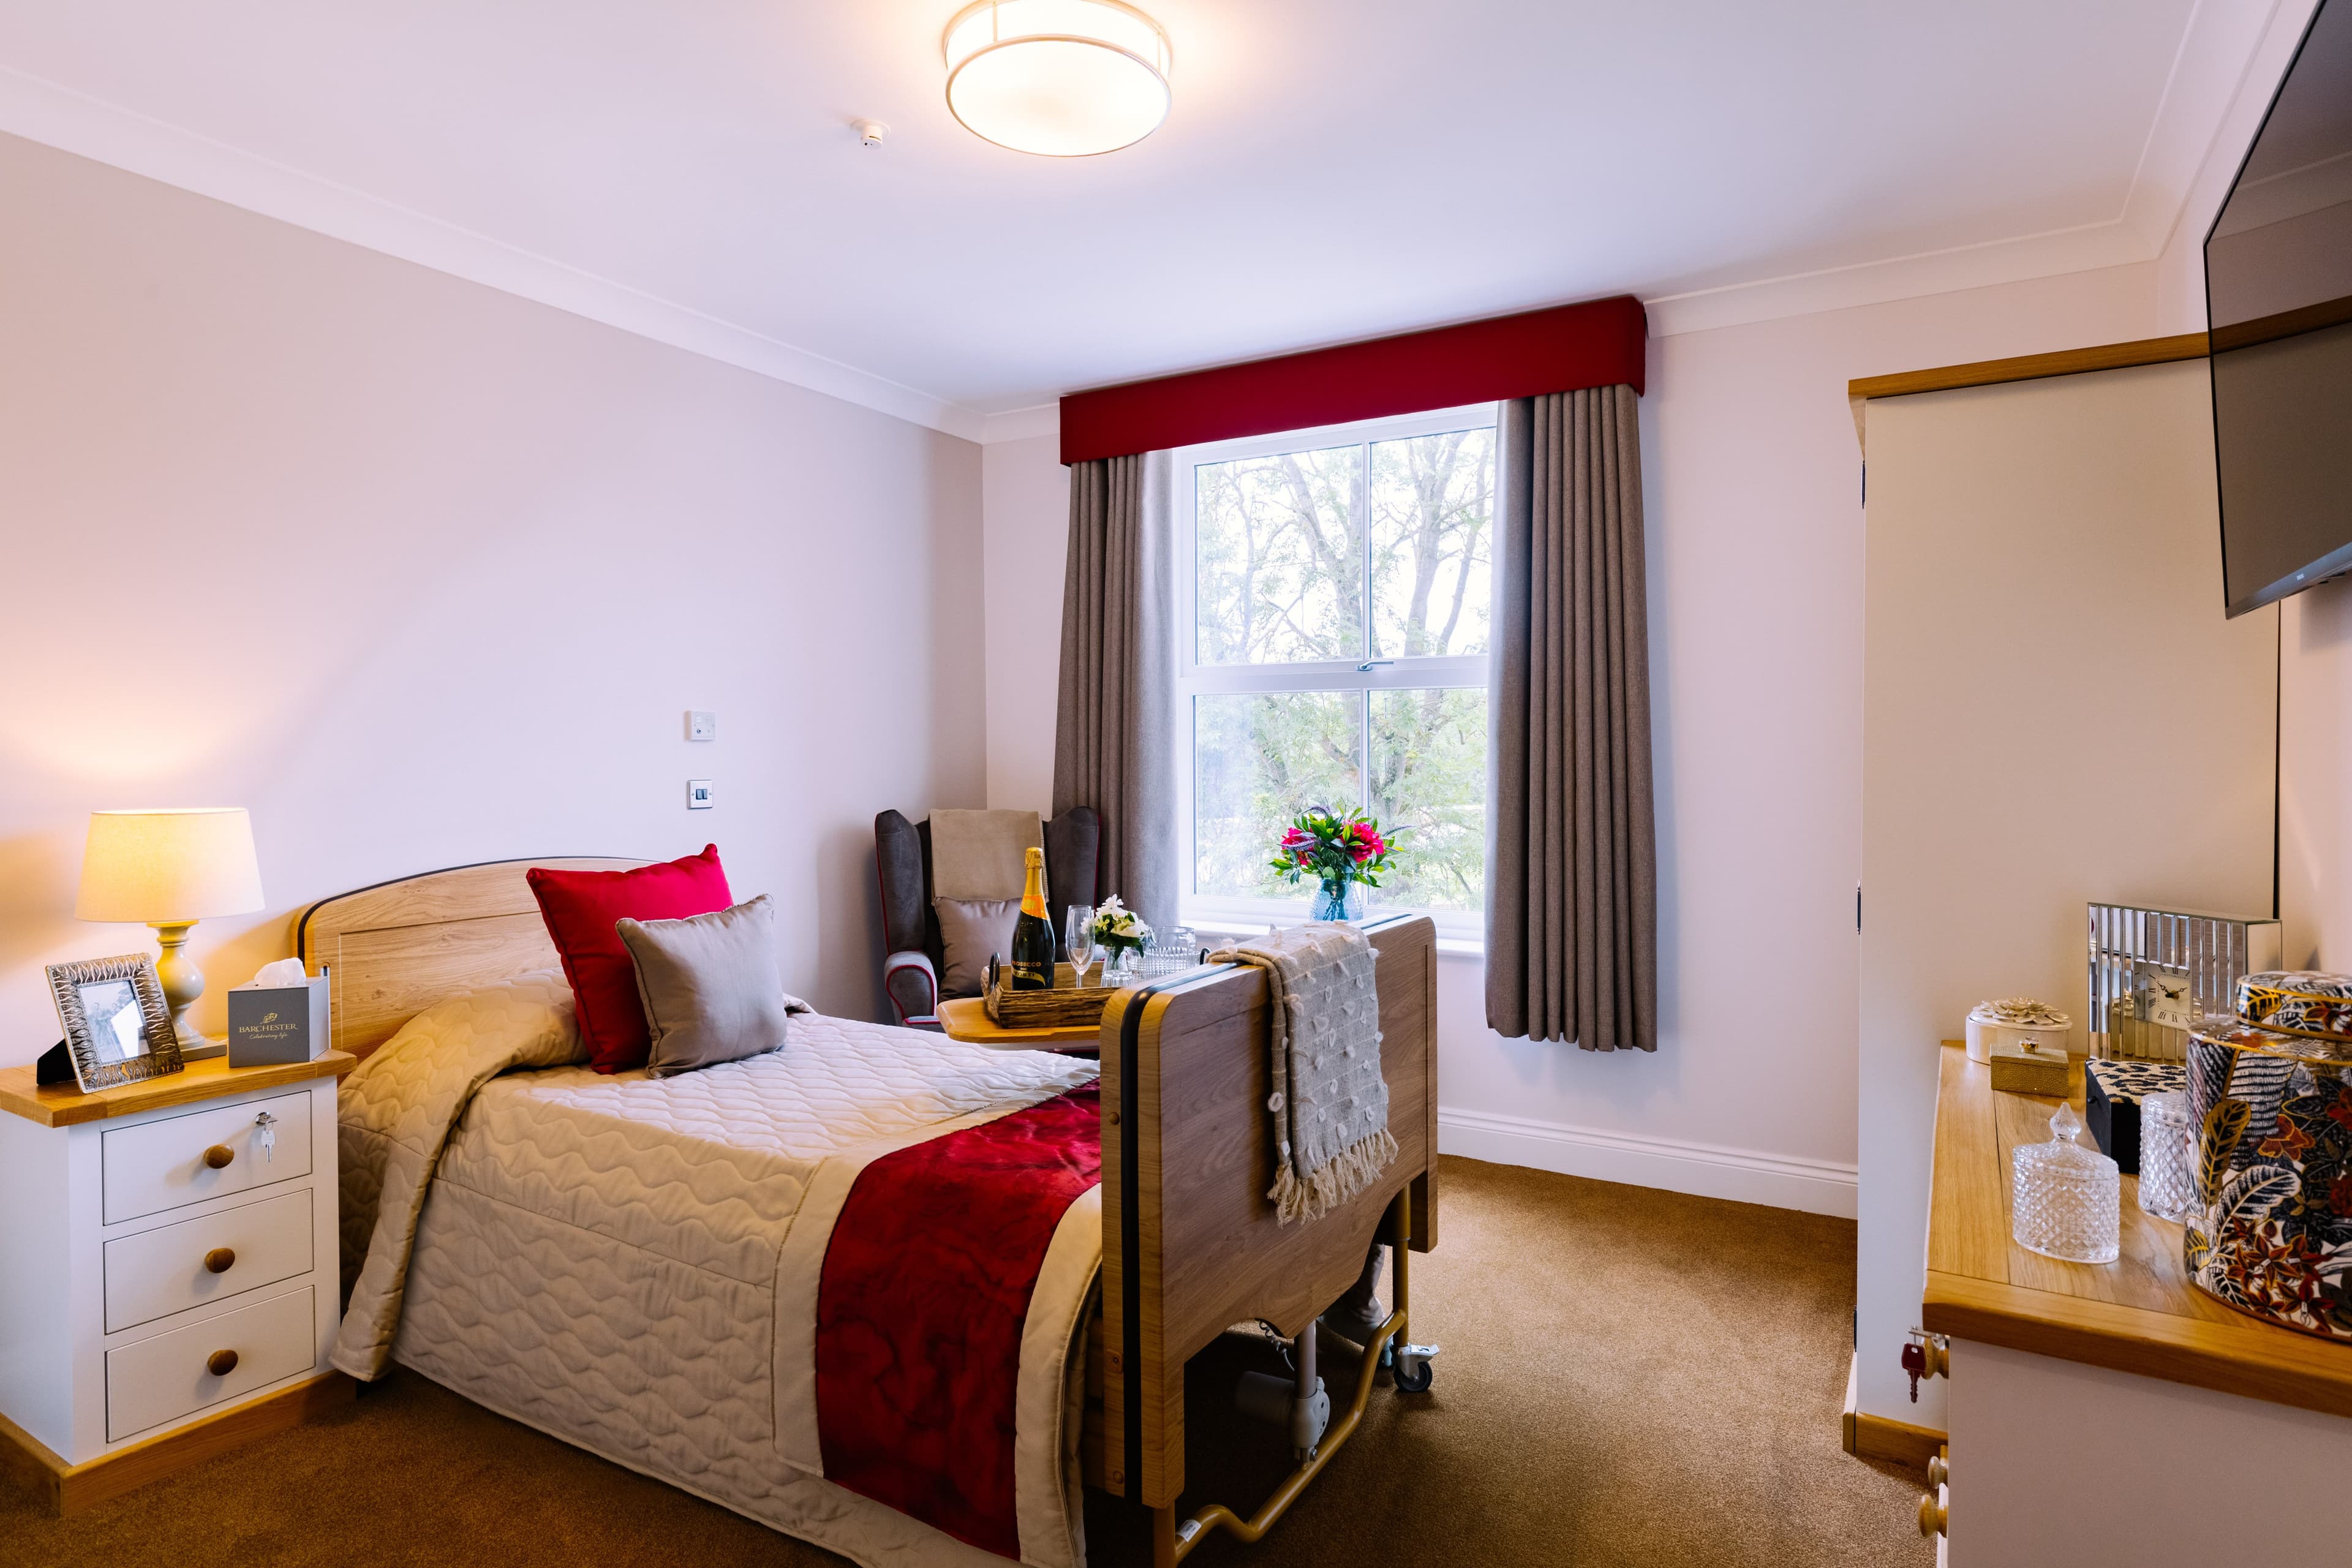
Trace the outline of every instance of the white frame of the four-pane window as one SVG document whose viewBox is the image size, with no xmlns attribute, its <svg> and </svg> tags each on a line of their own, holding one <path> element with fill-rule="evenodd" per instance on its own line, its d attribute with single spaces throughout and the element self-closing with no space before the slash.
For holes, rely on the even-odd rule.
<svg viewBox="0 0 2352 1568">
<path fill-rule="evenodd" d="M 1371 444 L 1411 440 L 1416 435 L 1446 435 L 1454 430 L 1489 430 L 1501 423 L 1503 407 L 1498 402 L 1470 402 L 1456 404 L 1451 409 L 1430 409 L 1425 414 L 1397 414 L 1388 418 L 1364 418 L 1341 425 L 1310 425 L 1303 430 L 1279 430 L 1272 435 L 1251 435 L 1225 442 L 1202 442 L 1197 447 L 1178 447 L 1169 454 L 1171 475 L 1171 498 L 1169 510 L 1174 512 L 1174 585 L 1176 585 L 1176 701 L 1171 703 L 1171 755 L 1176 759 L 1176 853 L 1181 865 L 1183 886 L 1178 891 L 1176 905 L 1178 917 L 1188 926 L 1207 926 L 1214 931 L 1230 929 L 1268 929 L 1282 922 L 1296 922 L 1301 903 L 1308 898 L 1308 886 L 1301 884 L 1298 893 L 1289 898 L 1223 898 L 1214 893 L 1197 893 L 1195 879 L 1200 875 L 1200 860 L 1192 846 L 1192 698 L 1200 696 L 1237 696 L 1258 691 L 1423 691 L 1430 686 L 1446 689 L 1477 689 L 1486 691 L 1486 654 L 1449 654 L 1449 656 L 1421 656 L 1406 658 L 1397 656 L 1381 663 L 1378 668 L 1362 670 L 1371 654 L 1371 583 L 1364 583 L 1364 649 L 1367 656 L 1359 661 L 1350 658 L 1317 658 L 1301 663 L 1200 663 L 1200 625 L 1197 625 L 1197 590 L 1200 590 L 1200 545 L 1197 545 L 1197 494 L 1192 470 L 1230 463 L 1237 458 L 1279 456 L 1284 451 L 1315 451 L 1322 447 L 1362 447 L 1364 468 L 1359 470 L 1369 482 Z M 1496 480 L 1496 496 L 1501 496 L 1501 477 Z M 1359 503 L 1369 505 L 1369 487 L 1359 491 Z M 1364 520 L 1364 562 L 1367 571 L 1371 564 L 1371 520 Z M 1489 536 L 1491 541 L 1491 536 Z M 1491 599 L 1491 543 L 1489 543 L 1489 604 Z M 1364 698 L 1364 748 L 1371 748 L 1371 705 Z M 1369 764 L 1369 757 L 1359 752 L 1359 769 Z M 1489 759 L 1489 773 L 1491 773 Z M 1270 853 L 1270 851 L 1268 851 Z M 1414 912 L 1428 914 L 1437 924 L 1437 936 L 1449 945 L 1456 943 L 1484 943 L 1486 938 L 1486 910 L 1418 910 L 1411 905 L 1381 905 L 1383 912 Z"/>
</svg>

